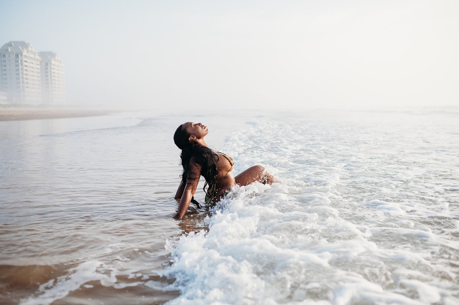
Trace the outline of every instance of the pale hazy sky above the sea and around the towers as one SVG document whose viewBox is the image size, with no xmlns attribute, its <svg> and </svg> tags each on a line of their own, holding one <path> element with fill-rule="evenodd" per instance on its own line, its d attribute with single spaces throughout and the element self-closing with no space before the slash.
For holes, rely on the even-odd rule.
<svg viewBox="0 0 459 305">
<path fill-rule="evenodd" d="M 459 105 L 458 0 L 0 1 L 0 44 L 59 54 L 71 104 Z"/>
</svg>

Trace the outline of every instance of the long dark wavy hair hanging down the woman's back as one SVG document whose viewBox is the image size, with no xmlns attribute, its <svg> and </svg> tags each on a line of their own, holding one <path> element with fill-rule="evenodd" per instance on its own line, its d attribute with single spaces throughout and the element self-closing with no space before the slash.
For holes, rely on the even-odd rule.
<svg viewBox="0 0 459 305">
<path fill-rule="evenodd" d="M 194 162 L 202 166 L 201 174 L 206 179 L 206 183 L 202 189 L 206 191 L 207 185 L 217 184 L 218 155 L 207 146 L 190 143 L 190 136 L 191 134 L 183 125 L 180 125 L 174 133 L 174 143 L 182 150 L 180 153 L 180 163 L 183 167 L 182 181 L 186 184 L 188 166 L 191 158 L 194 157 Z"/>
</svg>

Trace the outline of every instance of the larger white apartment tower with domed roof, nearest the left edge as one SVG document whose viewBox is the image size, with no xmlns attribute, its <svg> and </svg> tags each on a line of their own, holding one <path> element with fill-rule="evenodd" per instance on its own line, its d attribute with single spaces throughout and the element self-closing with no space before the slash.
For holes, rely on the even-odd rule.
<svg viewBox="0 0 459 305">
<path fill-rule="evenodd" d="M 9 104 L 37 105 L 41 101 L 40 57 L 25 41 L 10 41 L 0 49 L 1 85 Z"/>
</svg>

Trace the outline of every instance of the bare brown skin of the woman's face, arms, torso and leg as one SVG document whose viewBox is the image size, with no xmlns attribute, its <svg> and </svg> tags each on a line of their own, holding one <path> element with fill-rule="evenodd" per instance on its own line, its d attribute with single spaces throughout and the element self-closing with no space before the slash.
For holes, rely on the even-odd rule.
<svg viewBox="0 0 459 305">
<path fill-rule="evenodd" d="M 190 137 L 188 141 L 190 143 L 207 146 L 204 137 L 209 133 L 207 126 L 202 125 L 201 123 L 186 122 L 182 124 L 185 126 Z M 216 188 L 217 191 L 215 194 L 221 194 L 225 191 L 229 191 L 233 186 L 237 185 L 249 185 L 255 181 L 266 183 L 273 183 L 274 177 L 265 171 L 264 167 L 261 165 L 252 166 L 249 169 L 246 169 L 241 174 L 237 176 L 234 175 L 233 169 L 231 168 L 231 163 L 227 158 L 218 158 L 217 162 L 218 169 L 218 182 Z M 226 174 L 228 173 L 228 174 Z M 225 177 L 226 174 L 226 177 Z M 179 210 L 175 214 L 175 219 L 182 219 L 185 216 L 185 212 L 190 206 L 191 198 L 196 192 L 198 186 L 199 178 L 201 177 L 201 165 L 194 162 L 194 159 L 191 158 L 188 166 L 188 176 L 186 179 L 186 184 L 183 181 L 180 182 L 179 188 L 175 193 L 175 199 L 179 200 Z M 223 198 L 223 194 L 214 198 L 213 202 L 218 202 Z"/>
</svg>

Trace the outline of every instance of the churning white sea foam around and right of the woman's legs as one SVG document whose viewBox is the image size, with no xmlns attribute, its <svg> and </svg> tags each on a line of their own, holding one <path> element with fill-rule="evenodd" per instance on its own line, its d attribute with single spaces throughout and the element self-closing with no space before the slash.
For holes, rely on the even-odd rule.
<svg viewBox="0 0 459 305">
<path fill-rule="evenodd" d="M 259 163 L 281 183 L 235 188 L 207 233 L 168 240 L 163 275 L 182 293 L 171 304 L 459 301 L 458 196 L 446 193 L 457 184 L 445 182 L 459 173 L 437 173 L 457 153 L 434 161 L 417 140 L 434 143 L 435 124 L 282 114 L 252 124 L 222 151 L 235 171 Z"/>
</svg>

